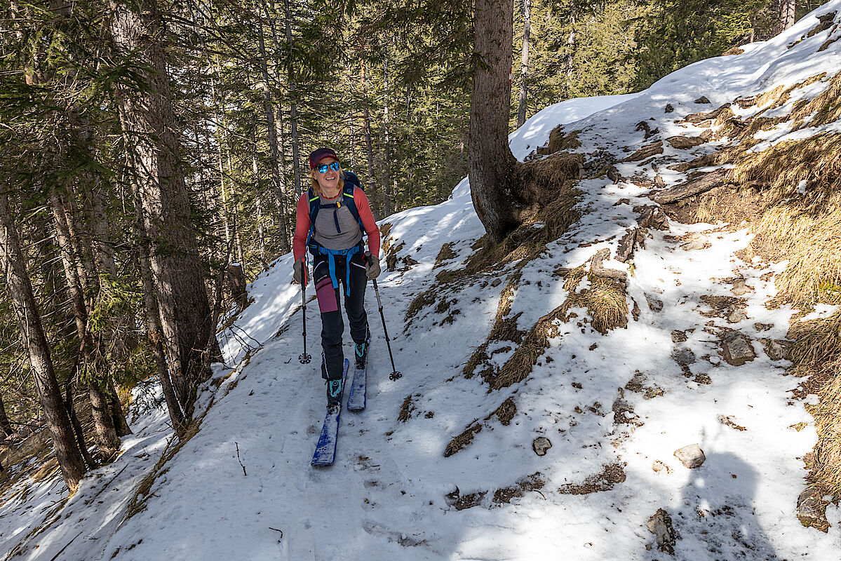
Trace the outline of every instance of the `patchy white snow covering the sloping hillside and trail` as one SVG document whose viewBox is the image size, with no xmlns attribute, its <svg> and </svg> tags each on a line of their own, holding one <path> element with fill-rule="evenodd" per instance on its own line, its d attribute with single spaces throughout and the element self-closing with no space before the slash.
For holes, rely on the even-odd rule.
<svg viewBox="0 0 841 561">
<path fill-rule="evenodd" d="M 841 42 L 817 51 L 837 30 L 804 38 L 817 15 L 832 11 L 841 12 L 841 0 L 825 4 L 773 40 L 744 45 L 742 55 L 698 62 L 644 92 L 545 108 L 510 135 L 512 151 L 523 160 L 546 144 L 558 124 L 580 131 L 580 151 L 611 151 L 620 158 L 653 141 L 636 130 L 641 120 L 648 120 L 652 130 L 659 128 L 659 138 L 700 134 L 701 129 L 677 121 L 841 68 Z M 815 85 L 796 95 L 812 98 L 821 91 Z M 695 103 L 701 95 L 711 105 Z M 664 113 L 667 103 L 674 113 Z M 806 127 L 796 133 L 816 131 Z M 778 132 L 774 141 L 791 135 L 782 128 Z M 690 151 L 665 146 L 664 156 L 688 161 L 725 141 Z M 579 182 L 582 219 L 522 268 L 510 311 L 510 316 L 519 314 L 519 329 L 529 329 L 568 297 L 555 267 L 577 267 L 602 248 L 615 255 L 621 235 L 636 224 L 633 207 L 652 204 L 648 188 L 634 183 L 635 175 L 651 179 L 659 172 L 667 185 L 685 178 L 636 162 L 616 167 L 629 179 Z M 646 521 L 664 508 L 681 536 L 675 546 L 678 559 L 838 559 L 837 506 L 827 509 L 832 526 L 826 534 L 802 527 L 794 516 L 805 485 L 802 457 L 817 441 L 804 403 L 814 403 L 817 396 L 792 399 L 791 390 L 801 380 L 785 376 L 789 363 L 771 361 L 759 342 L 760 337 L 785 339 L 797 310 L 765 305 L 776 293 L 766 273 L 780 273 L 785 263 L 734 257 L 750 242 L 748 230 L 676 222 L 668 231 L 650 230 L 632 268 L 605 262 L 629 273 L 628 304 L 637 304 L 638 320 L 629 318 L 627 329 L 602 336 L 590 326 L 587 310 L 571 310 L 575 316 L 558 322 L 557 334 L 532 373 L 510 388 L 490 390 L 479 375 L 466 378 L 463 368 L 488 336 L 515 264 L 447 287 L 435 281 L 442 270 L 463 267 L 484 234 L 468 179 L 444 203 L 406 210 L 383 222 L 391 225 L 397 243 L 405 243 L 399 257 L 419 262 L 408 270 L 383 272 L 378 279 L 394 361 L 404 376 L 389 380 L 392 368 L 376 299 L 368 294 L 373 332 L 368 408 L 341 415 L 331 468 L 309 466 L 325 407 L 317 304 L 310 302 L 306 310 L 307 348 L 315 361 L 302 365 L 297 361 L 303 343 L 302 294 L 291 283 L 291 256 L 285 256 L 251 283 L 254 302 L 223 319 L 225 324 L 238 313 L 234 325 L 220 334 L 228 366 L 214 367 L 213 381 L 199 394 L 201 430 L 157 474 L 145 509 L 126 517 L 141 480 L 171 437 L 154 384 L 138 392 L 138 403 L 148 407 L 135 415 L 135 435 L 124 438 L 122 456 L 84 479 L 63 508 L 54 505 L 66 498 L 55 475 L 30 482 L 29 495 L 15 495 L 22 490 L 19 484 L 0 498 L 0 553 L 50 559 L 66 548 L 58 558 L 92 561 L 652 561 L 664 555 L 653 545 Z M 689 249 L 687 239 L 706 243 Z M 445 242 L 457 257 L 436 267 Z M 735 277 L 744 278 L 748 287 L 742 296 L 747 319 L 730 324 L 714 315 L 701 296 L 733 296 L 726 279 Z M 495 278 L 502 281 L 497 286 L 491 283 Z M 447 311 L 426 306 L 406 320 L 411 300 L 433 287 L 436 303 L 449 302 Z M 583 289 L 584 283 L 578 290 Z M 309 286 L 306 298 L 311 295 Z M 818 307 L 807 318 L 834 311 Z M 770 328 L 759 332 L 756 324 Z M 733 367 L 722 360 L 717 330 L 723 327 L 751 337 L 754 361 Z M 489 346 L 497 367 L 514 352 L 503 350 L 508 346 L 507 341 Z M 346 356 L 351 353 L 346 338 Z M 680 368 L 676 354 L 694 360 Z M 398 414 L 407 398 L 410 414 L 401 422 Z M 516 404 L 516 415 L 503 425 L 489 414 L 508 398 Z M 614 404 L 621 403 L 639 426 L 616 422 Z M 452 437 L 474 423 L 481 430 L 473 441 L 444 458 Z M 539 436 L 553 444 L 543 457 L 532 452 Z M 673 456 L 691 443 L 706 454 L 706 462 L 693 470 Z M 666 464 L 668 473 L 655 472 L 655 461 Z M 621 466 L 624 481 L 589 494 L 562 492 L 612 464 Z M 540 489 L 525 490 L 510 503 L 494 500 L 497 490 L 532 474 L 543 482 Z M 478 505 L 457 510 L 447 497 L 456 490 L 462 498 L 477 494 Z M 45 520 L 54 523 L 26 537 Z"/>
</svg>

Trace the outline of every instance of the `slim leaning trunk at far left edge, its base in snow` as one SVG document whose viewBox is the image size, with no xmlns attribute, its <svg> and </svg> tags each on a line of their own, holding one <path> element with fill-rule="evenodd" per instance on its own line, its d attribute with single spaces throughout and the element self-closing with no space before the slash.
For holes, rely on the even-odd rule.
<svg viewBox="0 0 841 561">
<path fill-rule="evenodd" d="M 50 357 L 50 347 L 44 336 L 44 329 L 32 294 L 32 284 L 29 283 L 29 276 L 24 266 L 18 232 L 12 218 L 12 209 L 9 208 L 6 194 L 0 194 L 0 252 L 2 252 L 5 269 L 6 289 L 18 320 L 21 340 L 29 354 L 29 364 L 38 388 L 41 407 L 44 409 L 47 428 L 56 450 L 61 476 L 71 493 L 75 493 L 79 488 L 79 481 L 85 474 L 85 464 L 73 437 L 70 417 L 61 400 L 61 390 L 58 387 Z"/>
</svg>

